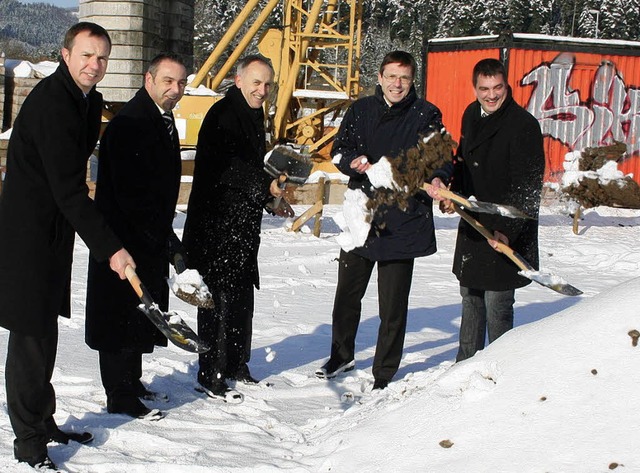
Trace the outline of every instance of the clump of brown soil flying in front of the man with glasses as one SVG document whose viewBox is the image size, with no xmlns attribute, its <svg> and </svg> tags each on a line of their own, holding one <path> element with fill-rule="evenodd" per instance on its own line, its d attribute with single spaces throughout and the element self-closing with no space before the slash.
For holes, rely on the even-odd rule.
<svg viewBox="0 0 640 473">
<path fill-rule="evenodd" d="M 372 210 L 381 205 L 398 205 L 402 210 L 408 207 L 408 199 L 422 188 L 434 171 L 451 162 L 452 151 L 457 146 L 446 129 L 434 131 L 421 137 L 418 146 L 408 149 L 395 157 L 387 157 L 391 163 L 393 180 L 400 190 L 376 189 L 367 204 Z"/>
</svg>

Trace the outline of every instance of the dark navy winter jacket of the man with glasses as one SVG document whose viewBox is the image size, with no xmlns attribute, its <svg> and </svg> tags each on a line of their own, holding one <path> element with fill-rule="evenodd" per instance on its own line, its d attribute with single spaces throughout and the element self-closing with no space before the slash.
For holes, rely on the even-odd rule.
<svg viewBox="0 0 640 473">
<path fill-rule="evenodd" d="M 412 87 L 407 96 L 391 107 L 378 85 L 375 94 L 354 102 L 347 110 L 333 144 L 331 155 L 339 158 L 340 171 L 349 176 L 349 188 L 372 195 L 366 174 L 350 168 L 360 155 L 376 163 L 383 156 L 395 157 L 417 146 L 421 136 L 442 128 L 438 108 L 418 98 Z M 430 176 L 425 176 L 427 180 Z M 426 195 L 426 194 L 425 194 Z M 373 216 L 364 246 L 353 250 L 371 261 L 412 259 L 436 252 L 432 202 L 409 198 L 409 206 L 381 206 Z"/>
</svg>

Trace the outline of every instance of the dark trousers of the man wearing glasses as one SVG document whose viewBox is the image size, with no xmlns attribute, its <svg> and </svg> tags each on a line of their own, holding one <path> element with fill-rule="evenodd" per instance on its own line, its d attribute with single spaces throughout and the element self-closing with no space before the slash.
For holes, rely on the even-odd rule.
<svg viewBox="0 0 640 473">
<path fill-rule="evenodd" d="M 374 261 L 340 251 L 338 285 L 333 302 L 331 358 L 351 361 L 360 324 L 362 298 Z M 390 381 L 398 371 L 407 328 L 413 259 L 378 262 L 380 328 L 373 359 L 373 376 Z"/>
</svg>

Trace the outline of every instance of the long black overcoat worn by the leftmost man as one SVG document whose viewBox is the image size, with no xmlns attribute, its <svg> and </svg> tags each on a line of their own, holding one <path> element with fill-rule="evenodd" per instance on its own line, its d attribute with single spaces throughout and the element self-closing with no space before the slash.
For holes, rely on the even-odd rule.
<svg viewBox="0 0 640 473">
<path fill-rule="evenodd" d="M 100 261 L 122 248 L 86 185 L 101 108 L 61 61 L 15 120 L 0 196 L 0 325 L 9 330 L 44 337 L 70 316 L 75 232 Z"/>
</svg>

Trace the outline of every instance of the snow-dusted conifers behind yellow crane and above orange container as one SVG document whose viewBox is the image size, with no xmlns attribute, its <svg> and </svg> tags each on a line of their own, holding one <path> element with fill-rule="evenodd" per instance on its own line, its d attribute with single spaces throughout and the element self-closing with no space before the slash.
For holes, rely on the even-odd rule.
<svg viewBox="0 0 640 473">
<path fill-rule="evenodd" d="M 206 60 L 245 3 L 196 0 L 196 65 Z M 421 57 L 424 42 L 431 38 L 511 31 L 640 40 L 640 0 L 367 0 L 363 6 L 365 85 L 386 52 L 404 49 Z M 277 27 L 281 21 L 282 11 L 277 10 L 266 27 Z M 231 48 L 226 54 L 230 52 Z"/>
</svg>

